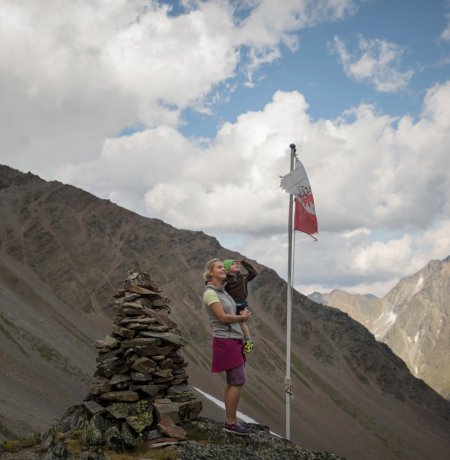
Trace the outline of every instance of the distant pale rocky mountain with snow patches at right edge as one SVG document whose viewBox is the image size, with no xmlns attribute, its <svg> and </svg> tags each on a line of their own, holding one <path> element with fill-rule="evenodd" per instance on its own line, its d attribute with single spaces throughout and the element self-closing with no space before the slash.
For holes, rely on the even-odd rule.
<svg viewBox="0 0 450 460">
<path fill-rule="evenodd" d="M 431 261 L 382 299 L 334 290 L 322 300 L 366 326 L 413 375 L 450 399 L 450 257 Z"/>
</svg>

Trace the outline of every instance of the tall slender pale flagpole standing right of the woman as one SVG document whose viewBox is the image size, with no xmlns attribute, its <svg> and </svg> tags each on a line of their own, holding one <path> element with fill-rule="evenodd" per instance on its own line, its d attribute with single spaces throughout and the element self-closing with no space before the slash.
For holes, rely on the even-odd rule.
<svg viewBox="0 0 450 460">
<path fill-rule="evenodd" d="M 294 169 L 295 144 L 291 148 L 291 169 Z M 289 219 L 288 219 L 288 283 L 287 283 L 287 305 L 286 305 L 286 378 L 284 380 L 286 392 L 286 439 L 291 439 L 291 320 L 292 320 L 292 237 L 293 237 L 293 197 L 289 194 Z"/>
</svg>

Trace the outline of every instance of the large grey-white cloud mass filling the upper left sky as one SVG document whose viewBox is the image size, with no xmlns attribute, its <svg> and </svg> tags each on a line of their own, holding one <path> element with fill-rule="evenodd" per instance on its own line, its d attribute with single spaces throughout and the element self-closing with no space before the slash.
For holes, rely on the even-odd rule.
<svg viewBox="0 0 450 460">
<path fill-rule="evenodd" d="M 187 107 L 208 110 L 217 85 L 241 69 L 251 80 L 282 43 L 295 48 L 302 27 L 354 10 L 352 0 L 185 6 L 172 15 L 146 0 L 2 1 L 2 161 L 52 177 L 124 128 L 178 126 Z"/>
</svg>

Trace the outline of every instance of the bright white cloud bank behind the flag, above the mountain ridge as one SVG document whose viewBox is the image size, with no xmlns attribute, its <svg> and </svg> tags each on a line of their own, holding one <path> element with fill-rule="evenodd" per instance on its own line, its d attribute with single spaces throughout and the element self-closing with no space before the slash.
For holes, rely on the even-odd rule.
<svg viewBox="0 0 450 460">
<path fill-rule="evenodd" d="M 261 111 L 225 124 L 207 147 L 175 128 L 149 129 L 108 140 L 95 163 L 60 177 L 95 193 L 113 184 L 115 201 L 176 227 L 238 232 L 244 239 L 236 247 L 228 239 L 230 249 L 285 277 L 287 194 L 279 176 L 295 142 L 320 228 L 317 243 L 297 234 L 296 284 L 384 295 L 450 247 L 449 221 L 435 217 L 450 215 L 449 104 L 450 82 L 427 92 L 416 121 L 367 105 L 313 121 L 301 94 L 279 91 Z"/>
</svg>

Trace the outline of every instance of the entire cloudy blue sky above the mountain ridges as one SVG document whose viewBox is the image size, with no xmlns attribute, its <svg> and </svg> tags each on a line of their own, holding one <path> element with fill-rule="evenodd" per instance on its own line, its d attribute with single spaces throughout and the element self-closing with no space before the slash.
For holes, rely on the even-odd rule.
<svg viewBox="0 0 450 460">
<path fill-rule="evenodd" d="M 295 234 L 301 292 L 383 296 L 450 254 L 450 2 L 1 0 L 0 18 L 1 164 L 286 278 L 294 143 L 319 222 Z"/>
</svg>

